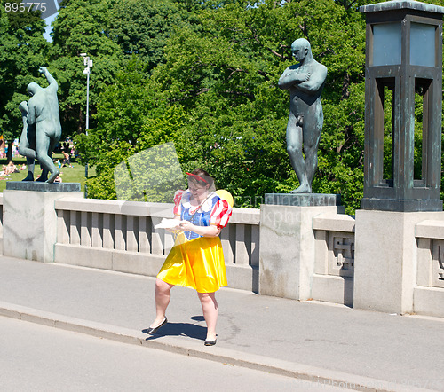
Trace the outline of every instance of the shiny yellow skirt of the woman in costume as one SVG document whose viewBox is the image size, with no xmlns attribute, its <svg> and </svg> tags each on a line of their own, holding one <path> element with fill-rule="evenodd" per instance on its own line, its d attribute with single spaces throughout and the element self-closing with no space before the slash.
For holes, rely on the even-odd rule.
<svg viewBox="0 0 444 392">
<path fill-rule="evenodd" d="M 188 241 L 180 233 L 157 278 L 170 285 L 194 288 L 198 293 L 214 293 L 226 286 L 220 239 L 200 237 Z"/>
</svg>

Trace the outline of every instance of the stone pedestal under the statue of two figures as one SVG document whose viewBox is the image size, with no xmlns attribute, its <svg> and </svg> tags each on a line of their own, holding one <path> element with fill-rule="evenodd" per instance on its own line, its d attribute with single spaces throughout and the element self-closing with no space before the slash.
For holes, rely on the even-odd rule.
<svg viewBox="0 0 444 392">
<path fill-rule="evenodd" d="M 57 241 L 55 200 L 83 198 L 80 184 L 11 182 L 3 194 L 3 254 L 52 263 Z"/>
</svg>

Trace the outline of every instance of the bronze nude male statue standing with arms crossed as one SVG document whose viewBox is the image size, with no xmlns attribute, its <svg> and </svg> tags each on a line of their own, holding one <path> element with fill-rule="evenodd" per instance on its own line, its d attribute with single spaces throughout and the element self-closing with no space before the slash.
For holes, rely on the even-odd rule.
<svg viewBox="0 0 444 392">
<path fill-rule="evenodd" d="M 288 67 L 278 82 L 290 93 L 287 153 L 300 184 L 291 193 L 311 193 L 324 120 L 321 92 L 327 67 L 313 59 L 310 43 L 304 38 L 291 44 L 291 52 L 298 64 Z"/>
</svg>

